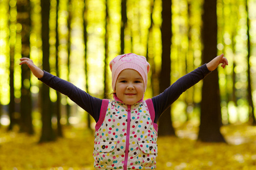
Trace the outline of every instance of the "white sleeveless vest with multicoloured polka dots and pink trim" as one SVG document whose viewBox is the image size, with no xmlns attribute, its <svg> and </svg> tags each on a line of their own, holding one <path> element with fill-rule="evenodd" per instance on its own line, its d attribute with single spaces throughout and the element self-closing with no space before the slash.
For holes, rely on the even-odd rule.
<svg viewBox="0 0 256 170">
<path fill-rule="evenodd" d="M 135 105 L 107 101 L 95 126 L 94 168 L 155 169 L 157 124 L 146 101 Z"/>
</svg>

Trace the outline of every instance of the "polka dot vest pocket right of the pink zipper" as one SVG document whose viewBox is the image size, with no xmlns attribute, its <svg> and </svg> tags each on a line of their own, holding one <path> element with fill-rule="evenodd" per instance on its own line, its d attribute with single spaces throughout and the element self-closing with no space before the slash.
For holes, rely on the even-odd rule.
<svg viewBox="0 0 256 170">
<path fill-rule="evenodd" d="M 138 142 L 141 154 L 141 163 L 143 167 L 152 167 L 156 165 L 157 143 L 152 141 Z"/>
</svg>

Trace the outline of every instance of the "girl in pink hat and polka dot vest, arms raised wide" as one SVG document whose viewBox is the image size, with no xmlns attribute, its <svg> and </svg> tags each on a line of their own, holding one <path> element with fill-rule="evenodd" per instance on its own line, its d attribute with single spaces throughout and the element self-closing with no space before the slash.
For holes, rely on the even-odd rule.
<svg viewBox="0 0 256 170">
<path fill-rule="evenodd" d="M 95 169 L 155 169 L 157 121 L 178 97 L 228 60 L 223 54 L 182 76 L 162 94 L 143 100 L 150 65 L 143 56 L 123 54 L 110 62 L 114 99 L 98 99 L 39 69 L 29 58 L 21 58 L 33 75 L 49 87 L 67 95 L 96 121 Z"/>
</svg>

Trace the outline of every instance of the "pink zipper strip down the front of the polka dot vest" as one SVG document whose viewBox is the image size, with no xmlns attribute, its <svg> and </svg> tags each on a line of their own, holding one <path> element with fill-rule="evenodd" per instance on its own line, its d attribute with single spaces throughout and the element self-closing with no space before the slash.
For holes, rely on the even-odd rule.
<svg viewBox="0 0 256 170">
<path fill-rule="evenodd" d="M 126 131 L 126 144 L 125 144 L 125 156 L 124 156 L 124 170 L 127 170 L 129 143 L 130 143 L 130 127 L 131 127 L 131 105 L 127 105 L 127 131 Z"/>
</svg>

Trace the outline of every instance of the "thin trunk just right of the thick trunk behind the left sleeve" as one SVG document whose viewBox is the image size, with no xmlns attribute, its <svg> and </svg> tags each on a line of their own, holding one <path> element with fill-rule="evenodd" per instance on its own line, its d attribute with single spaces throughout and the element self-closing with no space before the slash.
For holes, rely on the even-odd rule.
<svg viewBox="0 0 256 170">
<path fill-rule="evenodd" d="M 59 46 L 59 39 L 58 39 L 58 9 L 59 9 L 59 0 L 56 0 L 56 44 L 55 44 L 55 49 L 56 49 L 56 76 L 60 77 L 60 70 L 58 68 L 58 46 Z M 61 119 L 61 94 L 60 92 L 56 91 L 57 94 L 57 100 L 56 100 L 56 116 L 57 116 L 57 136 L 58 137 L 63 137 L 62 133 L 62 127 L 60 123 Z"/>
</svg>

